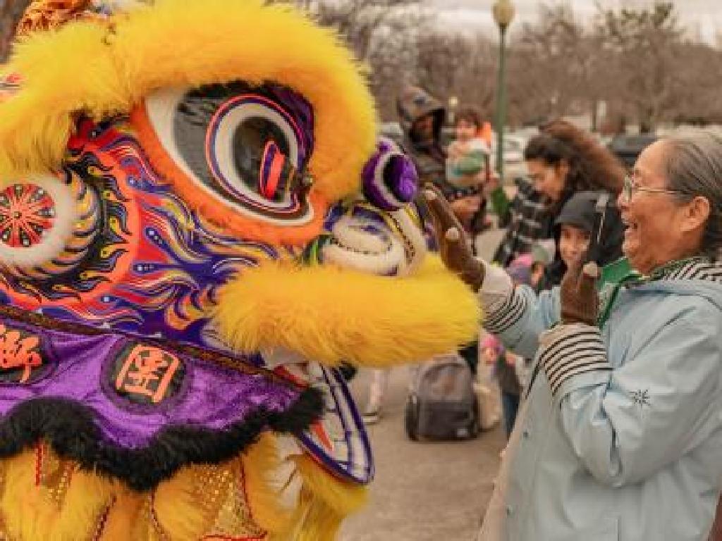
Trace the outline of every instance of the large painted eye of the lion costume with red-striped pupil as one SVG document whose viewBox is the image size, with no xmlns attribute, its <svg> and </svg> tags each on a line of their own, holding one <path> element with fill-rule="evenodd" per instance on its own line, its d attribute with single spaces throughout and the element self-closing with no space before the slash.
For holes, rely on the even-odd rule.
<svg viewBox="0 0 722 541">
<path fill-rule="evenodd" d="M 157 92 L 145 113 L 175 165 L 216 205 L 274 224 L 313 219 L 305 172 L 313 117 L 302 97 L 271 85 L 216 84 Z"/>
</svg>

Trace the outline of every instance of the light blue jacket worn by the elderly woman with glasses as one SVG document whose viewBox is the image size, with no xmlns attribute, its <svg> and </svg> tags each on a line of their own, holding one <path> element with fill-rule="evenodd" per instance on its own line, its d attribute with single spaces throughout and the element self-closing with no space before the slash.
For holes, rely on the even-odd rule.
<svg viewBox="0 0 722 541">
<path fill-rule="evenodd" d="M 500 338 L 534 356 L 558 290 L 515 294 L 526 306 Z M 706 541 L 722 487 L 722 283 L 622 289 L 601 338 L 609 369 L 554 394 L 538 371 L 505 457 L 498 538 Z"/>
</svg>

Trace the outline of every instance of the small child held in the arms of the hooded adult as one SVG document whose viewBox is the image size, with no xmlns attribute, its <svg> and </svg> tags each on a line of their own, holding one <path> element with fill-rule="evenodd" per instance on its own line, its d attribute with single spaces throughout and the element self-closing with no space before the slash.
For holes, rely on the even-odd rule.
<svg viewBox="0 0 722 541">
<path fill-rule="evenodd" d="M 481 232 L 487 226 L 484 186 L 490 180 L 490 149 L 479 136 L 482 120 L 471 109 L 456 115 L 456 141 L 447 149 L 444 195 L 466 231 Z"/>
</svg>

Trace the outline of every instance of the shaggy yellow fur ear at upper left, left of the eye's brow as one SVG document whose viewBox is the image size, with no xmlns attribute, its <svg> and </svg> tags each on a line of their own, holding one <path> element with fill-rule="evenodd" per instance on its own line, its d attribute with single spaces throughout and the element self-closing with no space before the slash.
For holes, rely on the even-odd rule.
<svg viewBox="0 0 722 541">
<path fill-rule="evenodd" d="M 17 40 L 4 70 L 14 88 L 0 102 L 0 183 L 59 170 L 77 115 L 128 110 L 107 35 L 79 21 Z"/>
</svg>

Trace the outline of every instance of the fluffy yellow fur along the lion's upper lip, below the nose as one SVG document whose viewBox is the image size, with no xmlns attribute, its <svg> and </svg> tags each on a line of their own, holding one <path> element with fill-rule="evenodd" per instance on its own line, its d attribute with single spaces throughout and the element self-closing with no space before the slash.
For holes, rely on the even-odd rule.
<svg viewBox="0 0 722 541">
<path fill-rule="evenodd" d="M 324 364 L 390 366 L 456 351 L 479 327 L 471 290 L 427 257 L 408 278 L 270 263 L 219 294 L 215 319 L 237 351 L 286 348 Z"/>
</svg>

